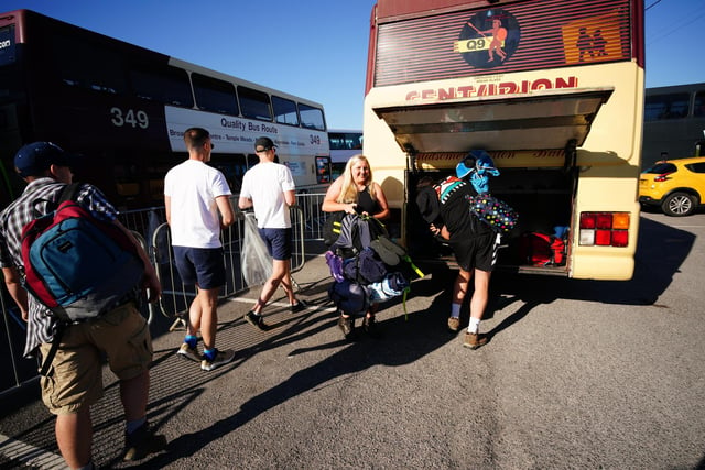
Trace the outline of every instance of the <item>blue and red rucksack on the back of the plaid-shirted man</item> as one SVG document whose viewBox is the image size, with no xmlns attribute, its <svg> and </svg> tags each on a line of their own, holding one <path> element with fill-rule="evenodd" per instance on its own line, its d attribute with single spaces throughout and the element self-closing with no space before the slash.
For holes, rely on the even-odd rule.
<svg viewBox="0 0 705 470">
<path fill-rule="evenodd" d="M 144 275 L 128 234 L 76 203 L 78 186 L 67 185 L 54 211 L 22 229 L 23 286 L 64 321 L 115 308 Z"/>
</svg>

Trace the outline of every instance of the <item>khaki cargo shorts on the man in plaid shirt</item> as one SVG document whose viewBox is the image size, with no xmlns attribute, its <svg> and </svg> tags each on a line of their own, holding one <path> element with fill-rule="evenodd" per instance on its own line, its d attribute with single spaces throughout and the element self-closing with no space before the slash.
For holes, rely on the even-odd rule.
<svg viewBox="0 0 705 470">
<path fill-rule="evenodd" d="M 45 358 L 51 343 L 41 346 Z M 56 356 L 42 376 L 42 400 L 55 415 L 76 413 L 102 396 L 102 358 L 120 380 L 149 370 L 152 338 L 133 303 L 64 330 Z"/>
</svg>

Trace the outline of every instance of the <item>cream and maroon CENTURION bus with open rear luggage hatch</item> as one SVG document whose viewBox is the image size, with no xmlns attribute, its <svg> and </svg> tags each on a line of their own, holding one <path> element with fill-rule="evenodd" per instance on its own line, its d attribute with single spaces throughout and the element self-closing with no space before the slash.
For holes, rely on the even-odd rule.
<svg viewBox="0 0 705 470">
<path fill-rule="evenodd" d="M 451 259 L 431 249 L 416 182 L 485 150 L 491 193 L 519 212 L 498 269 L 631 278 L 643 67 L 641 0 L 378 0 L 364 153 L 411 254 Z M 565 261 L 535 265 L 532 232 L 565 237 Z"/>
</svg>

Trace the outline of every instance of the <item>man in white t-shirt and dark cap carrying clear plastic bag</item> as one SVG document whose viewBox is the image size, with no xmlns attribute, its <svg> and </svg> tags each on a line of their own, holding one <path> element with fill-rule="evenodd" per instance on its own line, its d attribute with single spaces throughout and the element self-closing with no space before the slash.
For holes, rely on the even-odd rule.
<svg viewBox="0 0 705 470">
<path fill-rule="evenodd" d="M 245 319 L 261 330 L 267 329 L 262 319 L 262 308 L 281 284 L 289 297 L 292 313 L 306 308 L 303 300 L 296 300 L 291 282 L 292 230 L 289 207 L 296 201 L 294 178 L 288 166 L 274 163 L 276 145 L 269 138 L 259 138 L 254 151 L 260 163 L 250 168 L 242 178 L 240 209 L 254 207 L 257 226 L 273 259 L 272 275 L 264 283 L 254 307 Z"/>
</svg>

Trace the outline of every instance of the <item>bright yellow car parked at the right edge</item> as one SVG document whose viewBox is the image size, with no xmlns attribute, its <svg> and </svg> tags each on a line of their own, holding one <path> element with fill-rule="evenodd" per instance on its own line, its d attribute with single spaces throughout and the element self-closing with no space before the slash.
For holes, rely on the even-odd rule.
<svg viewBox="0 0 705 470">
<path fill-rule="evenodd" d="M 705 195 L 705 156 L 657 162 L 639 176 L 639 203 L 666 216 L 693 214 Z"/>
</svg>

